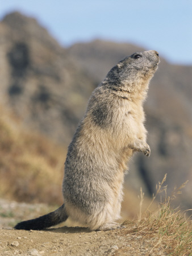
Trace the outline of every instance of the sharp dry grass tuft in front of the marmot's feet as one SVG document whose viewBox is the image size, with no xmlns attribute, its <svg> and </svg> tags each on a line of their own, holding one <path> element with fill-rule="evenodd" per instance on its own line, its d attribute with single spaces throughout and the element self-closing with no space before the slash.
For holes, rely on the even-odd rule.
<svg viewBox="0 0 192 256">
<path fill-rule="evenodd" d="M 181 193 L 181 189 L 186 183 L 183 183 L 178 189 L 175 188 L 171 196 L 167 196 L 166 186 L 164 186 L 165 180 L 166 175 L 162 182 L 158 183 L 157 193 L 145 209 L 144 217 L 141 216 L 141 207 L 144 199 L 144 193 L 141 190 L 140 212 L 138 219 L 134 222 L 134 228 L 131 233 L 140 234 L 146 239 L 158 237 L 149 255 L 153 253 L 156 247 L 163 248 L 168 255 L 191 255 L 192 233 L 190 217 L 186 218 L 186 213 L 183 213 L 179 208 L 172 209 L 170 206 L 171 201 L 178 193 Z M 150 207 L 159 193 L 164 193 L 164 200 L 158 204 L 156 212 L 151 213 Z"/>
</svg>

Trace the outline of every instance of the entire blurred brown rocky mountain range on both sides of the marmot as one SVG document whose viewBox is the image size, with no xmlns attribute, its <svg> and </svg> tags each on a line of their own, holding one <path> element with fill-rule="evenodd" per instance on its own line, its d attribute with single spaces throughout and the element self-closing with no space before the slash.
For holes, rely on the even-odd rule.
<svg viewBox="0 0 192 256">
<path fill-rule="evenodd" d="M 0 23 L 0 101 L 23 126 L 68 144 L 95 86 L 124 56 L 142 50 L 95 40 L 61 47 L 35 19 L 20 13 Z M 158 49 L 156 49 L 158 51 Z M 168 192 L 186 180 L 177 204 L 191 208 L 192 67 L 161 58 L 145 102 L 150 158 L 137 153 L 126 185 L 155 193 L 167 173 Z"/>
</svg>

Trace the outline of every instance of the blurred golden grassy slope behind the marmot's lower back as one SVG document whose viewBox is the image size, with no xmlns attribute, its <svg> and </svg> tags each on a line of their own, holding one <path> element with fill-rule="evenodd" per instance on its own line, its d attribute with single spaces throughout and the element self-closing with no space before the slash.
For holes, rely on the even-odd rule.
<svg viewBox="0 0 192 256">
<path fill-rule="evenodd" d="M 21 129 L 0 109 L 0 197 L 61 204 L 66 150 Z"/>
</svg>

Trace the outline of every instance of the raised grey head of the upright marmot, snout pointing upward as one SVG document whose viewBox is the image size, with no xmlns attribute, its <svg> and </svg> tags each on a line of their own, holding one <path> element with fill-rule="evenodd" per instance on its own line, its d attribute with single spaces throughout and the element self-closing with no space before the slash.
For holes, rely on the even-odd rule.
<svg viewBox="0 0 192 256">
<path fill-rule="evenodd" d="M 113 67 L 106 76 L 110 86 L 120 87 L 134 92 L 148 84 L 160 62 L 158 52 L 135 52 L 125 57 Z"/>
</svg>

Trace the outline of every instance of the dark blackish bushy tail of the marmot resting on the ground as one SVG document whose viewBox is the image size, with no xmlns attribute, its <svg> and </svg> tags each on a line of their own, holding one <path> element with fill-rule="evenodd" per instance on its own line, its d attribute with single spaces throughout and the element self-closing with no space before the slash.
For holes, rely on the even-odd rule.
<svg viewBox="0 0 192 256">
<path fill-rule="evenodd" d="M 67 218 L 68 214 L 66 214 L 65 205 L 63 204 L 54 212 L 45 214 L 39 218 L 34 218 L 33 220 L 19 222 L 14 228 L 25 230 L 41 230 L 66 221 Z"/>
</svg>

